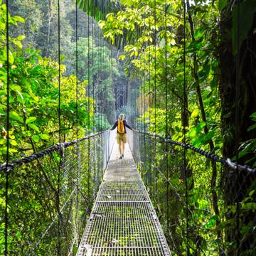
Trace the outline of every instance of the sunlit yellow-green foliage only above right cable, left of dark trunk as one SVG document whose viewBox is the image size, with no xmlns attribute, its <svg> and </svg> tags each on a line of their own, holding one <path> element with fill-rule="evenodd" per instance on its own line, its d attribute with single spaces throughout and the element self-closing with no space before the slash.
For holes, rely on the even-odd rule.
<svg viewBox="0 0 256 256">
<path fill-rule="evenodd" d="M 165 22 L 162 18 L 164 9 L 162 2 L 156 1 L 156 10 L 154 9 L 154 1 L 122 1 L 122 4 L 124 8 L 118 13 L 108 14 L 105 21 L 100 21 L 100 26 L 104 31 L 105 38 L 113 44 L 116 44 L 119 37 L 124 38 L 124 33 L 133 33 L 132 36 L 127 36 L 126 46 L 124 46 L 125 54 L 120 55 L 119 59 L 126 60 L 127 70 L 129 70 L 128 75 L 137 76 L 144 81 L 144 85 L 140 88 L 140 96 L 137 99 L 138 112 L 144 114 L 139 122 L 146 122 L 148 124 L 146 127 L 150 127 L 150 131 L 157 130 L 161 134 L 165 130 L 163 122 L 168 122 L 169 136 L 181 141 L 183 137 L 180 122 L 180 110 L 183 107 L 183 46 L 178 41 L 178 36 L 180 36 L 178 33 L 183 26 L 178 15 L 181 5 L 177 1 L 167 1 L 169 14 L 176 15 L 167 15 L 166 23 L 169 29 L 165 35 L 163 33 Z M 225 5 L 224 2 L 219 4 L 221 6 Z M 213 30 L 216 29 L 213 19 L 219 14 L 218 7 L 214 4 L 201 4 L 199 1 L 190 7 L 190 11 L 195 19 L 193 22 L 195 32 L 193 38 L 187 36 L 186 41 L 186 83 L 189 96 L 188 115 L 190 116 L 188 130 L 192 129 L 191 135 L 194 133 L 194 136 L 189 136 L 189 138 L 194 145 L 204 145 L 206 149 L 210 140 L 215 140 L 216 149 L 219 149 L 221 142 L 218 61 L 211 50 L 215 47 L 215 41 L 212 40 Z M 203 21 L 201 20 L 202 16 Z M 134 23 L 136 23 L 137 28 L 135 28 Z M 189 27 L 186 30 L 189 32 Z M 165 50 L 167 50 L 167 59 Z M 198 80 L 193 78 L 193 55 L 195 54 L 198 62 L 201 63 L 198 67 Z M 156 70 L 154 67 L 156 67 Z M 167 73 L 167 78 L 165 78 L 165 73 Z M 201 97 L 203 97 L 203 107 L 207 120 L 202 120 L 201 106 L 197 103 L 197 85 L 203 91 Z M 154 92 L 154 86 L 157 88 L 156 92 Z M 157 117 L 158 122 L 154 122 L 153 109 L 155 105 L 156 109 L 159 108 L 159 111 L 166 107 L 165 87 L 167 90 L 167 108 L 169 109 L 168 121 L 165 120 L 164 114 L 161 114 L 163 118 Z M 150 93 L 152 96 L 149 96 Z M 156 102 L 154 102 L 154 93 L 156 93 Z M 151 111 L 150 108 L 152 108 Z M 194 117 L 191 114 L 193 111 L 198 112 Z M 200 133 L 195 133 L 197 124 L 194 123 L 206 121 L 208 123 L 206 125 L 210 127 L 208 129 L 209 133 L 205 134 L 203 127 Z M 154 124 L 157 127 L 154 128 Z"/>
</svg>

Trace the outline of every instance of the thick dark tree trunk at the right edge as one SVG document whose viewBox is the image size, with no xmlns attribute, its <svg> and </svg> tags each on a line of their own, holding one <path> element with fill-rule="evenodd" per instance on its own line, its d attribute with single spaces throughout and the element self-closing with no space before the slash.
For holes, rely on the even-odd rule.
<svg viewBox="0 0 256 256">
<path fill-rule="evenodd" d="M 245 142 L 247 139 L 256 137 L 255 130 L 247 132 L 248 127 L 252 125 L 250 114 L 256 112 L 256 34 L 253 32 L 256 26 L 256 16 L 254 15 L 253 26 L 247 34 L 247 39 L 242 42 L 240 47 L 240 70 L 239 72 L 239 100 L 235 100 L 236 86 L 236 57 L 232 52 L 231 29 L 232 12 L 230 6 L 233 1 L 228 1 L 227 8 L 223 10 L 220 18 L 220 46 L 217 49 L 218 58 L 220 60 L 220 98 L 222 103 L 222 132 L 223 132 L 223 156 L 232 158 L 236 154 L 236 133 L 240 142 Z M 244 14 L 241 14 L 244 15 Z M 239 127 L 236 127 L 235 107 L 238 105 Z M 247 155 L 239 159 L 240 164 L 250 159 Z M 252 164 L 252 163 L 249 163 Z M 240 202 L 247 197 L 252 184 L 252 174 L 247 174 L 245 171 L 232 171 L 224 167 L 225 181 L 225 205 L 237 206 L 237 213 L 229 213 L 228 219 L 235 219 L 239 216 Z M 255 177 L 254 177 L 255 178 Z M 250 214 L 245 216 L 240 215 L 242 221 L 236 218 L 235 227 L 228 228 L 225 238 L 227 242 L 237 242 L 237 245 L 230 247 L 228 255 L 240 255 L 242 252 L 253 245 L 252 235 L 244 236 L 240 239 L 241 225 L 250 223 L 255 217 Z M 242 224 L 243 222 L 243 224 Z"/>
</svg>

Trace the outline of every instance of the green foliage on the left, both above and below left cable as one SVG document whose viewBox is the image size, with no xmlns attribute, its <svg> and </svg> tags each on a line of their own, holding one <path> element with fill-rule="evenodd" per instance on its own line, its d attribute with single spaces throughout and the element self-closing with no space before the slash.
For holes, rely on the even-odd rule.
<svg viewBox="0 0 256 256">
<path fill-rule="evenodd" d="M 23 4 L 29 6 L 32 2 L 27 1 Z M 17 4 L 20 4 L 20 1 L 17 1 Z M 21 22 L 24 22 L 23 18 L 10 15 L 10 31 L 16 31 L 16 33 L 22 31 Z M 6 6 L 4 4 L 0 6 L 0 33 L 0 164 L 2 164 L 6 161 L 7 142 Z M 95 100 L 89 97 L 88 78 L 79 81 L 72 73 L 67 74 L 65 65 L 59 67 L 52 58 L 42 57 L 40 51 L 34 48 L 35 46 L 26 45 L 25 39 L 23 34 L 14 36 L 14 33 L 11 33 L 9 38 L 10 161 L 58 143 L 59 133 L 61 142 L 66 142 L 76 139 L 77 131 L 78 137 L 84 137 L 85 133 L 90 133 L 92 129 L 110 127 L 104 114 L 97 117 L 98 123 L 99 119 L 103 120 L 102 127 L 100 124 L 99 127 L 93 127 L 96 123 L 94 122 L 96 104 Z M 103 50 L 106 52 L 107 48 Z M 110 66 L 110 61 L 107 64 Z M 58 79 L 59 68 L 60 81 Z M 100 69 L 96 70 L 95 74 L 97 72 L 100 72 Z M 108 78 L 106 83 L 110 85 L 111 82 Z M 108 99 L 112 99 L 111 93 L 108 96 Z M 59 103 L 60 113 L 58 112 Z M 76 116 L 77 111 L 78 116 Z M 60 114 L 60 127 L 58 114 Z M 92 198 L 92 191 L 97 190 L 102 178 L 101 167 L 104 161 L 101 142 L 102 139 L 99 137 L 94 138 L 93 144 L 82 141 L 79 144 L 80 153 L 78 153 L 77 146 L 70 146 L 61 155 L 60 151 L 55 151 L 10 171 L 9 204 L 7 206 L 9 254 L 29 255 L 33 250 L 36 255 L 57 254 L 58 232 L 60 232 L 62 244 L 60 254 L 66 255 L 69 252 L 70 247 L 73 246 L 74 236 L 77 239 L 76 235 L 82 235 L 89 213 L 87 209 L 92 203 L 91 201 L 85 202 L 84 198 Z M 87 158 L 90 151 L 98 156 L 97 161 L 93 161 L 93 166 Z M 82 159 L 79 165 L 78 155 Z M 67 166 L 73 166 L 73 168 L 68 168 L 67 171 L 65 169 Z M 97 176 L 92 176 L 92 181 L 90 181 L 88 172 L 92 171 L 96 175 L 96 166 Z M 78 180 L 81 186 L 79 193 L 76 187 Z M 0 183 L 4 184 L 5 181 L 6 173 L 1 171 Z M 5 192 L 5 186 L 1 186 L 1 220 L 4 220 Z M 80 205 L 75 205 L 74 202 L 78 198 Z M 65 203 L 67 203 L 66 208 Z M 60 228 L 58 218 L 60 218 Z M 75 234 L 74 225 L 79 226 Z M 4 230 L 4 222 L 1 221 L 0 255 L 4 255 Z M 47 232 L 44 233 L 45 231 Z M 38 241 L 40 242 L 36 245 Z"/>
</svg>

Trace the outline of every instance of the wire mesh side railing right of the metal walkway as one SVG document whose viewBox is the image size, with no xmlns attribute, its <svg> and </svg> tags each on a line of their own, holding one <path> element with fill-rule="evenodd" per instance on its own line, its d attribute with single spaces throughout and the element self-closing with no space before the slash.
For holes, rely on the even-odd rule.
<svg viewBox="0 0 256 256">
<path fill-rule="evenodd" d="M 129 137 L 172 255 L 255 255 L 256 170 L 155 134 Z"/>
</svg>

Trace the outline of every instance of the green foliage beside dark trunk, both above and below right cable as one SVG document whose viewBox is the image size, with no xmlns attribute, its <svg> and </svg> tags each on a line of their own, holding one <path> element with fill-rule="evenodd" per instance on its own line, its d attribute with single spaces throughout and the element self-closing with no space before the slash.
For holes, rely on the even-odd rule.
<svg viewBox="0 0 256 256">
<path fill-rule="evenodd" d="M 186 130 L 186 142 L 221 154 L 223 131 L 221 131 L 220 119 L 223 110 L 220 102 L 221 92 L 218 90 L 220 63 L 216 49 L 220 44 L 218 21 L 222 18 L 221 11 L 230 8 L 230 1 L 198 0 L 193 3 L 186 1 L 186 63 L 183 56 L 182 1 L 121 1 L 121 4 L 122 8 L 118 12 L 111 12 L 104 21 L 100 21 L 100 27 L 108 41 L 114 46 L 124 47 L 124 53 L 119 59 L 125 61 L 126 74 L 129 78 L 142 80 L 139 92 L 132 92 L 132 95 L 137 95 L 136 104 L 132 103 L 133 99 L 131 99 L 129 105 L 129 110 L 137 107 L 137 112 L 134 114 L 134 110 L 131 110 L 131 114 L 139 115 L 138 129 L 171 137 L 178 142 L 183 142 L 183 131 Z M 247 14 L 241 15 L 242 43 L 251 28 L 255 9 L 252 1 L 242 1 L 240 4 L 242 9 L 246 6 L 246 11 L 241 13 Z M 253 8 L 248 8 L 249 5 Z M 166 6 L 168 7 L 165 20 Z M 233 16 L 236 8 L 236 6 L 233 8 Z M 233 19 L 233 28 L 236 28 L 235 20 L 236 17 Z M 233 36 L 235 31 L 233 29 Z M 231 38 L 231 33 L 227 36 Z M 184 79 L 187 89 L 185 92 Z M 133 90 L 136 91 L 137 88 Z M 187 122 L 184 122 L 184 116 Z M 255 129 L 255 126 L 252 125 L 250 129 Z M 154 176 L 151 176 L 155 180 L 148 186 L 152 190 L 151 196 L 158 197 L 155 206 L 159 209 L 167 239 L 171 245 L 174 243 L 177 245 L 174 248 L 175 253 L 185 255 L 188 245 L 191 255 L 218 255 L 218 251 L 223 247 L 219 234 L 223 235 L 227 230 L 232 232 L 232 228 L 228 226 L 230 224 L 226 225 L 223 220 L 228 213 L 223 207 L 225 202 L 223 191 L 219 191 L 217 185 L 223 178 L 220 166 L 214 166 L 212 162 L 206 161 L 201 156 L 196 157 L 195 154 L 186 153 L 189 173 L 188 205 L 191 208 L 188 229 L 191 231 L 191 237 L 187 241 L 180 240 L 184 238 L 183 232 L 186 227 L 184 219 L 187 218 L 186 210 L 180 206 L 182 203 L 178 201 L 178 197 L 176 198 L 176 193 L 178 195 L 185 193 L 184 174 L 180 170 L 183 166 L 183 156 L 178 148 L 173 148 L 170 149 L 170 156 L 167 157 L 163 144 L 157 144 L 156 151 L 153 152 L 150 146 L 154 142 L 144 145 L 143 138 L 140 144 L 142 152 L 138 164 L 142 169 L 144 181 L 149 181 L 151 175 L 149 170 L 155 168 L 161 171 L 156 171 Z M 250 154 L 252 156 L 250 162 L 255 161 L 253 159 L 255 140 L 245 142 L 242 147 L 244 149 L 240 151 L 240 156 L 246 155 L 246 159 L 250 159 L 248 158 Z M 169 173 L 166 173 L 166 169 Z M 166 220 L 168 209 L 164 203 L 168 178 L 163 178 L 163 174 L 165 178 L 169 176 L 171 187 L 169 220 Z M 158 191 L 155 186 L 158 186 Z M 254 209 L 251 202 L 244 207 Z M 230 216 L 227 218 L 227 222 L 234 222 Z M 222 238 L 225 240 L 225 235 Z M 225 246 L 231 248 L 233 245 Z"/>
</svg>

